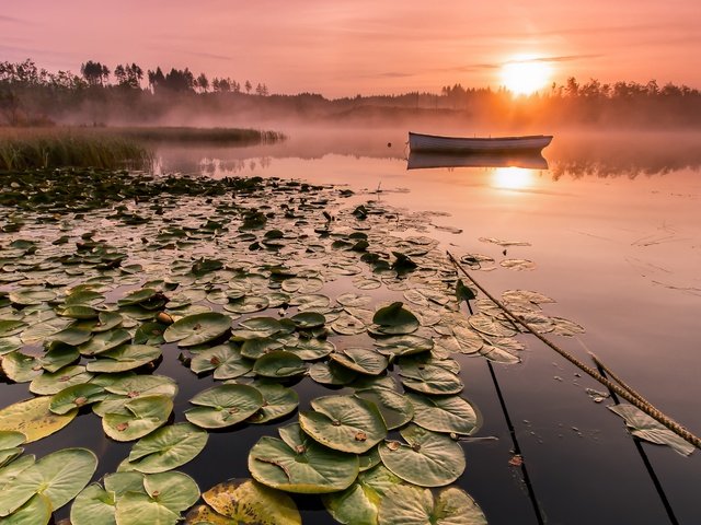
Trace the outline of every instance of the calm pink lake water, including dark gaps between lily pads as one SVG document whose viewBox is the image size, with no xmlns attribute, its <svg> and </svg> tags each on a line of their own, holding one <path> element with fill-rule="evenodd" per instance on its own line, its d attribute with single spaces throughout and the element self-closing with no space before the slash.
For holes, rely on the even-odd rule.
<svg viewBox="0 0 701 525">
<path fill-rule="evenodd" d="M 399 217 L 402 221 L 409 218 L 401 228 L 410 224 L 418 234 L 438 240 L 441 250 L 458 259 L 481 258 L 481 267 L 468 271 L 492 294 L 529 290 L 554 300 L 542 304 L 543 312 L 570 319 L 585 332 L 548 337 L 587 364 L 593 364 L 587 352 L 596 353 L 657 408 L 701 434 L 697 401 L 701 398 L 698 135 L 639 132 L 604 138 L 561 132 L 543 152 L 547 167 L 538 159 L 526 162 L 536 166 L 530 168 L 498 166 L 492 159 L 482 160 L 491 167 L 414 168 L 407 164 L 404 130 L 283 131 L 289 137 L 284 142 L 246 148 L 161 145 L 157 173 L 279 177 L 336 185 L 353 191 L 349 197 L 344 195 L 342 207 L 353 209 L 372 201 L 377 207 L 395 209 L 398 231 Z M 459 128 L 440 131 L 462 132 Z M 245 195 L 237 198 L 246 202 Z M 154 209 L 138 199 L 125 202 L 135 213 Z M 199 232 L 208 205 L 204 199 L 193 202 L 203 208 L 192 202 L 180 208 L 182 201 L 168 196 L 162 202 L 165 214 L 159 214 L 163 210 L 153 212 L 151 220 L 163 218 L 164 223 Z M 320 215 L 321 209 L 313 212 Z M 91 222 L 90 215 L 82 222 L 79 214 L 69 213 L 65 224 L 37 222 L 26 225 L 21 235 L 42 240 L 38 255 L 56 255 L 74 249 L 70 244 L 61 247 L 50 242 L 59 234 L 78 236 L 104 226 L 100 234 L 122 249 L 134 249 L 135 261 L 142 262 L 151 278 L 168 273 L 159 265 L 176 269 L 172 248 L 149 249 L 148 243 L 160 236 L 164 223 L 123 223 L 124 217 L 108 213 L 96 213 L 97 222 Z M 388 228 L 393 233 L 391 224 Z M 227 235 L 231 237 L 222 237 L 221 245 L 227 249 L 255 238 L 237 231 Z M 216 249 L 208 236 L 203 238 L 206 249 Z M 319 242 L 310 238 L 312 244 Z M 300 245 L 300 241 L 295 238 L 292 244 Z M 187 249 L 183 248 L 180 257 L 191 256 Z M 243 254 L 241 258 L 249 253 L 237 249 Z M 299 246 L 296 249 L 300 250 Z M 265 252 L 255 256 L 260 260 Z M 278 260 L 273 253 L 269 257 Z M 333 257 L 338 261 L 344 256 Z M 8 265 L 5 271 L 13 268 Z M 81 268 L 91 270 L 84 265 Z M 188 268 L 187 259 L 183 268 Z M 106 275 L 118 279 L 115 282 L 125 279 L 125 284 L 110 291 L 108 302 L 140 285 L 143 278 L 139 271 L 129 271 L 136 275 L 125 279 L 126 271 L 107 270 Z M 398 284 L 392 279 L 388 282 Z M 323 293 L 349 291 L 344 283 L 332 279 Z M 12 287 L 11 279 L 7 287 Z M 368 293 L 379 302 L 402 300 L 402 292 L 388 285 L 358 293 Z M 221 307 L 221 303 L 212 304 Z M 414 304 L 411 307 L 421 311 Z M 467 316 L 464 308 L 463 313 Z M 367 343 L 364 336 L 361 343 Z M 670 447 L 634 441 L 623 420 L 606 408 L 613 400 L 601 400 L 607 395 L 605 387 L 535 337 L 519 335 L 518 339 L 527 346 L 518 352 L 520 363 L 452 355 L 461 366 L 461 395 L 482 419 L 480 430 L 459 442 L 467 468 L 457 485 L 474 498 L 489 523 L 701 523 L 696 501 L 701 486 L 699 453 L 687 457 Z M 175 343 L 163 345 L 163 359 L 156 369 L 156 373 L 177 381 L 175 422 L 185 420 L 183 411 L 192 406 L 194 395 L 215 384 L 211 375 L 193 374 L 179 361 L 179 353 Z M 27 396 L 26 384 L 9 383 L 2 388 L 3 406 Z M 299 410 L 308 410 L 312 399 L 330 394 L 309 378 L 296 383 L 295 389 Z M 212 431 L 204 452 L 179 469 L 192 476 L 202 491 L 229 478 L 248 478 L 251 447 L 262 435 L 276 435 L 280 424 L 295 421 L 297 412 L 281 422 Z M 106 438 L 100 418 L 83 408 L 71 425 L 25 448 L 43 456 L 69 446 L 93 450 L 100 458 L 101 477 L 115 471 L 133 442 Z M 335 523 L 318 497 L 296 495 L 295 501 L 304 523 Z M 68 515 L 69 505 L 58 511 L 56 518 Z"/>
</svg>

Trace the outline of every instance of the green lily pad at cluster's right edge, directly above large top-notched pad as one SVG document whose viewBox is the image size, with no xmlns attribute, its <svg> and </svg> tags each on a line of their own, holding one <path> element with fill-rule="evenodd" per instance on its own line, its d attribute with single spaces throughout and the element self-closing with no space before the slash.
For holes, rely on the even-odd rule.
<svg viewBox="0 0 701 525">
<path fill-rule="evenodd" d="M 414 407 L 414 423 L 426 430 L 470 435 L 481 424 L 479 413 L 460 396 L 423 396 L 409 393 L 406 398 Z"/>
</svg>

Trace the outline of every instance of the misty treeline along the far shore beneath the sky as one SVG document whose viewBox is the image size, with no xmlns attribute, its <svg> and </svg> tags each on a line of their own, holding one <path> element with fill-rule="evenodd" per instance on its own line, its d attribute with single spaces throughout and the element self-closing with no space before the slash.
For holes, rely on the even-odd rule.
<svg viewBox="0 0 701 525">
<path fill-rule="evenodd" d="M 195 75 L 188 68 L 143 71 L 136 63 L 114 70 L 89 60 L 80 74 L 48 72 L 32 60 L 0 61 L 0 125 L 231 126 L 280 119 L 303 122 L 412 124 L 421 119 L 491 127 L 542 125 L 700 127 L 701 93 L 656 81 L 601 83 L 591 79 L 529 96 L 505 89 L 444 86 L 439 93 L 406 93 L 327 100 L 319 94 L 272 94 L 231 78 Z M 482 126 L 482 127 L 484 127 Z"/>
</svg>

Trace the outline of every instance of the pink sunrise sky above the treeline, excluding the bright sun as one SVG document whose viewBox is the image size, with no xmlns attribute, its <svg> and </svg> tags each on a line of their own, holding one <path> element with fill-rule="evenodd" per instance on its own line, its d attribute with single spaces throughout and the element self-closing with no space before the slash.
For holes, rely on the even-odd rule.
<svg viewBox="0 0 701 525">
<path fill-rule="evenodd" d="M 0 10 L 0 60 L 185 68 L 273 93 L 501 84 L 513 56 L 553 80 L 701 88 L 701 0 L 24 0 Z"/>
</svg>

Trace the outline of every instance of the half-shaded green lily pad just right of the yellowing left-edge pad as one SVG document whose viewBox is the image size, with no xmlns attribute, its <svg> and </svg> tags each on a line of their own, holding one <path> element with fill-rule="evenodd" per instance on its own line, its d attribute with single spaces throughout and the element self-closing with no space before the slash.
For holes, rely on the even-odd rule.
<svg viewBox="0 0 701 525">
<path fill-rule="evenodd" d="M 105 413 L 102 429 L 115 441 L 134 441 L 165 424 L 172 411 L 170 397 L 141 396 L 125 402 L 118 412 Z"/>
</svg>

